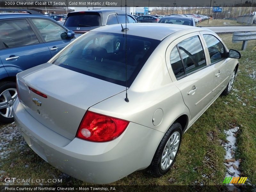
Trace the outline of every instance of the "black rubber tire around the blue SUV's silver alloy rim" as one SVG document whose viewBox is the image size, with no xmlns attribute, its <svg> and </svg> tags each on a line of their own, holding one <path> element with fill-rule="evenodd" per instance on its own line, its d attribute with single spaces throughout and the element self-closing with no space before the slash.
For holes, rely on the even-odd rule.
<svg viewBox="0 0 256 192">
<path fill-rule="evenodd" d="M 3 93 L 8 89 L 16 89 L 16 83 L 6 81 L 0 83 L 0 103 L 4 102 Z M 11 91 L 11 93 L 14 91 Z M 15 100 L 15 99 L 14 99 Z M 14 101 L 11 101 L 11 106 Z M 1 106 L 0 106 L 1 107 Z M 6 109 L 0 109 L 0 122 L 1 123 L 12 123 L 14 121 L 13 117 L 4 117 L 4 112 Z"/>
</svg>

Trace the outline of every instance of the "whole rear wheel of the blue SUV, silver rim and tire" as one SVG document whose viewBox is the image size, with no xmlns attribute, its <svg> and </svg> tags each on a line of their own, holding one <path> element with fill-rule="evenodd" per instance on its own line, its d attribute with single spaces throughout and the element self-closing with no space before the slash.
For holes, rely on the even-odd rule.
<svg viewBox="0 0 256 192">
<path fill-rule="evenodd" d="M 0 122 L 12 123 L 12 106 L 18 97 L 16 84 L 14 82 L 0 83 Z"/>
</svg>

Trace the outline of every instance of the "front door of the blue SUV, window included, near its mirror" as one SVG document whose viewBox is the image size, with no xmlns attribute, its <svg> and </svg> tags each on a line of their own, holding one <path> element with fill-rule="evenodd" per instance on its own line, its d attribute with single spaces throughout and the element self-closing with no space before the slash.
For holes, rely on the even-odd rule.
<svg viewBox="0 0 256 192">
<path fill-rule="evenodd" d="M 67 39 L 67 30 L 52 20 L 36 18 L 30 21 L 38 30 L 52 57 L 70 43 L 71 39 Z"/>
</svg>

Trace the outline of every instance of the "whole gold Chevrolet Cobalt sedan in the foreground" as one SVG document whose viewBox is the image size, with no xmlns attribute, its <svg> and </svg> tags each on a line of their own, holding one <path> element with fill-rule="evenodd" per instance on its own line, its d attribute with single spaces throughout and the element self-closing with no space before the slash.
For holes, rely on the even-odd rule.
<svg viewBox="0 0 256 192">
<path fill-rule="evenodd" d="M 160 177 L 182 134 L 231 91 L 240 57 L 206 28 L 97 28 L 17 75 L 14 119 L 39 156 L 77 179 L 105 184 L 147 167 Z"/>
</svg>

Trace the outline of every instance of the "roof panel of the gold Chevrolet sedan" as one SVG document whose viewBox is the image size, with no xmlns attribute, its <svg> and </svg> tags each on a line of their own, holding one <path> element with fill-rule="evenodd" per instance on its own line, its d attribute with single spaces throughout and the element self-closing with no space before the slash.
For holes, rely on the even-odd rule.
<svg viewBox="0 0 256 192">
<path fill-rule="evenodd" d="M 123 27 L 125 28 L 125 24 L 123 24 Z M 129 30 L 126 31 L 127 35 L 141 36 L 156 40 L 163 40 L 165 37 L 178 31 L 183 31 L 187 34 L 196 31 L 211 31 L 207 28 L 176 24 L 166 25 L 164 23 L 127 23 L 127 28 L 129 28 Z M 116 24 L 96 28 L 93 29 L 92 32 L 99 31 L 125 34 L 125 32 L 122 32 L 121 30 L 121 24 Z"/>
</svg>

